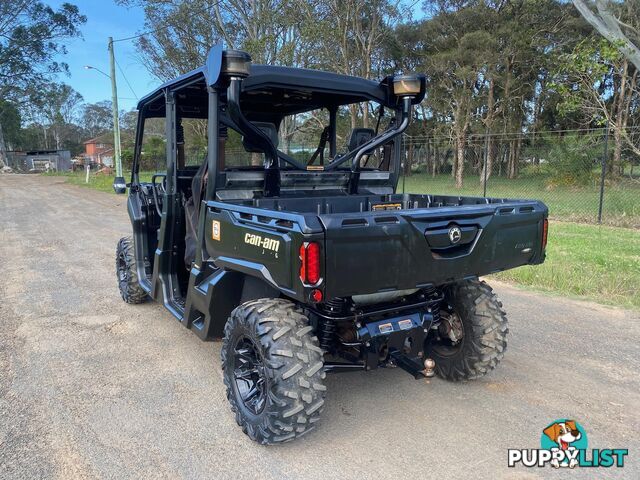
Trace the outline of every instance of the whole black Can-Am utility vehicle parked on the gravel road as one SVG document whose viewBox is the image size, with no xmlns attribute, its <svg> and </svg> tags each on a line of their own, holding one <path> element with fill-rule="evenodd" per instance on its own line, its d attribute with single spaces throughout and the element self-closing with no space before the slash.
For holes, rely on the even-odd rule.
<svg viewBox="0 0 640 480">
<path fill-rule="evenodd" d="M 151 297 L 201 339 L 223 338 L 227 397 L 253 440 L 312 429 L 326 372 L 463 380 L 504 355 L 507 318 L 478 277 L 542 263 L 547 208 L 396 193 L 401 134 L 424 95 L 420 75 L 251 65 L 217 46 L 138 105 L 131 183 L 114 183 L 129 187 L 133 227 L 117 248 L 122 298 Z M 356 104 L 377 104 L 375 128 L 339 142 Z M 312 154 L 279 149 L 291 117 L 318 120 Z M 158 122 L 166 173 L 142 181 Z"/>
</svg>

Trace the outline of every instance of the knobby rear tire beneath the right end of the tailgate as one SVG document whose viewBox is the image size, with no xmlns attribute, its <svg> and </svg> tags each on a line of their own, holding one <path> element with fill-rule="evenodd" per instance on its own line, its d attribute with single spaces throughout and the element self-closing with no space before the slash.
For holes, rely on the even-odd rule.
<svg viewBox="0 0 640 480">
<path fill-rule="evenodd" d="M 426 354 L 435 360 L 436 374 L 441 378 L 451 381 L 479 378 L 493 370 L 504 357 L 509 333 L 507 315 L 485 282 L 456 283 L 448 286 L 444 293 L 441 317 L 457 317 L 455 321 L 462 327 L 462 338 L 455 343 L 446 338 L 431 338 L 427 341 Z M 439 332 L 441 334 L 442 329 Z"/>
</svg>

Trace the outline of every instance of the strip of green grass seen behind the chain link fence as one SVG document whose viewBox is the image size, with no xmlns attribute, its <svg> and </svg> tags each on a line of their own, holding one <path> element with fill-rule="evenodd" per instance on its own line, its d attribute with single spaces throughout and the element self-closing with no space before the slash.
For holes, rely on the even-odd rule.
<svg viewBox="0 0 640 480">
<path fill-rule="evenodd" d="M 405 179 L 410 193 L 482 196 L 477 176 L 467 177 L 462 189 L 456 189 L 449 175 L 431 177 L 418 173 Z M 400 180 L 399 189 L 402 189 Z M 523 176 L 509 180 L 493 176 L 487 182 L 487 196 L 502 198 L 530 198 L 542 200 L 549 207 L 552 219 L 571 222 L 596 223 L 600 198 L 599 185 L 589 187 L 548 188 L 545 177 Z M 640 228 L 640 181 L 623 178 L 605 185 L 602 223 L 620 227 Z"/>
</svg>

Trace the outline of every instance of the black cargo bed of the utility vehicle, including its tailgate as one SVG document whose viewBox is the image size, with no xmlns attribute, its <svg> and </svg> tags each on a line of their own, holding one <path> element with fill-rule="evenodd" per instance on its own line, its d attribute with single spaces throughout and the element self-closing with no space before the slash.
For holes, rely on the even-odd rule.
<svg viewBox="0 0 640 480">
<path fill-rule="evenodd" d="M 248 273 L 262 277 L 269 272 L 266 280 L 283 290 L 297 290 L 290 263 L 297 258 L 299 242 L 309 234 L 320 240 L 327 298 L 439 286 L 544 260 L 547 207 L 535 200 L 306 195 L 209 206 L 215 212 L 211 220 L 222 221 L 223 231 L 237 228 L 239 237 L 252 231 L 269 233 L 290 249 L 278 258 L 251 250 L 243 257 L 254 264 Z M 452 229 L 457 229 L 453 240 Z M 221 266 L 230 267 L 226 259 L 246 251 L 235 248 L 224 254 L 226 242 L 221 243 L 208 242 L 223 254 L 214 259 Z"/>
</svg>

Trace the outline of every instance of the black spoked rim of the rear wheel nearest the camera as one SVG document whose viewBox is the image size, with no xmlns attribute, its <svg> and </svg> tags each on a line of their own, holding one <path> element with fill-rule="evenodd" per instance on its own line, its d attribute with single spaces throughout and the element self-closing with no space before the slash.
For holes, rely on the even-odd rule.
<svg viewBox="0 0 640 480">
<path fill-rule="evenodd" d="M 260 414 L 267 399 L 264 364 L 253 340 L 241 337 L 233 350 L 233 379 L 240 401 L 254 415 Z"/>
</svg>

